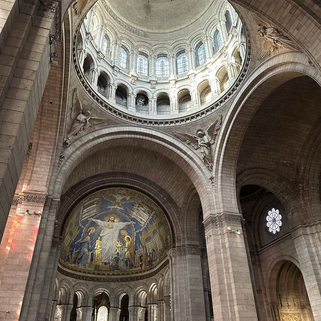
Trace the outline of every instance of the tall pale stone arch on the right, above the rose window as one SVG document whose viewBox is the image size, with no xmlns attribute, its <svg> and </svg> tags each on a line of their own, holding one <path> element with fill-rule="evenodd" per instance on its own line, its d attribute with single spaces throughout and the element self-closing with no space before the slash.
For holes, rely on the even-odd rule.
<svg viewBox="0 0 321 321">
<path fill-rule="evenodd" d="M 218 134 L 214 156 L 215 176 L 218 178 L 215 182 L 215 190 L 220 211 L 224 209 L 238 213 L 235 190 L 229 189 L 235 186 L 239 148 L 258 106 L 274 89 L 287 80 L 308 75 L 320 84 L 317 78 L 318 72 L 302 63 L 301 57 L 299 53 L 285 52 L 268 59 L 251 73 L 234 96 L 223 120 L 224 129 Z M 279 63 L 275 66 L 276 59 Z M 255 104 L 251 100 L 254 97 Z"/>
</svg>

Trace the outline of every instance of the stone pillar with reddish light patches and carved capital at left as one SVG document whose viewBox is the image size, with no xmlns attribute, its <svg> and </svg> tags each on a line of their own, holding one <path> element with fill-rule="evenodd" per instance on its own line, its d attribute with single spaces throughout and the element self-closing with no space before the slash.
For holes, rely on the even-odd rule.
<svg viewBox="0 0 321 321">
<path fill-rule="evenodd" d="M 10 236 L 1 243 L 0 314 L 8 310 L 8 319 L 20 317 L 45 201 L 40 192 L 20 193 L 13 223 L 7 225 Z"/>
</svg>

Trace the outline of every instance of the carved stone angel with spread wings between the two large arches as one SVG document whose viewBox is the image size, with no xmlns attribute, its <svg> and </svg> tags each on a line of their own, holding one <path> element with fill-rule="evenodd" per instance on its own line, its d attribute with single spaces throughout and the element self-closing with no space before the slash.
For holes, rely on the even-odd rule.
<svg viewBox="0 0 321 321">
<path fill-rule="evenodd" d="M 173 131 L 173 134 L 182 141 L 190 144 L 195 149 L 200 148 L 203 155 L 203 162 L 206 167 L 211 170 L 213 166 L 213 158 L 211 153 L 211 145 L 215 142 L 215 137 L 221 128 L 222 115 L 218 116 L 216 121 L 208 128 L 207 134 L 203 129 L 196 131 L 196 136 L 188 133 L 182 134 L 177 131 Z"/>
</svg>

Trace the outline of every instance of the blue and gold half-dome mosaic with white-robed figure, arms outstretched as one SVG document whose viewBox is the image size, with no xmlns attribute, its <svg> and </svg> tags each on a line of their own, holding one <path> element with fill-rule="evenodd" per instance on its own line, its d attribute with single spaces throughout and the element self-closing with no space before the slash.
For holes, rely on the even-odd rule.
<svg viewBox="0 0 321 321">
<path fill-rule="evenodd" d="M 69 215 L 60 264 L 81 272 L 139 273 L 154 268 L 171 247 L 169 223 L 156 203 L 135 190 L 107 188 Z"/>
</svg>

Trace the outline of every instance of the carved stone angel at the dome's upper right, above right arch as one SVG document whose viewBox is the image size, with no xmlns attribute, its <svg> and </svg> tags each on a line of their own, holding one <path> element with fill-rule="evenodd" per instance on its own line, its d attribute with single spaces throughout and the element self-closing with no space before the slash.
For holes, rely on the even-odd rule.
<svg viewBox="0 0 321 321">
<path fill-rule="evenodd" d="M 258 59 L 268 57 L 271 52 L 282 47 L 297 50 L 293 42 L 274 27 L 258 26 L 257 35 L 265 39 Z"/>
</svg>

